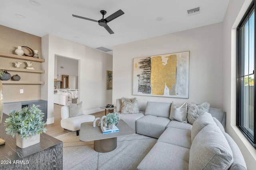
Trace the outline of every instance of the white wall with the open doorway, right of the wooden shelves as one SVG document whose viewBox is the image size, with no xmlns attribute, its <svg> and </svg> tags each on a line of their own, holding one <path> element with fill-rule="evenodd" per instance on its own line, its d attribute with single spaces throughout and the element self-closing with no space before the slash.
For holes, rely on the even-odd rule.
<svg viewBox="0 0 256 170">
<path fill-rule="evenodd" d="M 48 100 L 47 123 L 54 122 L 55 55 L 79 60 L 79 99 L 83 101 L 84 113 L 102 111 L 99 107 L 105 106 L 107 101 L 112 100 L 112 95 L 108 95 L 106 90 L 106 70 L 112 70 L 112 55 L 54 35 L 45 35 L 42 37 L 42 58 L 46 60 L 42 64 L 45 69 L 42 79 L 44 79 L 45 84 L 41 88 L 41 96 L 43 100 Z"/>
</svg>

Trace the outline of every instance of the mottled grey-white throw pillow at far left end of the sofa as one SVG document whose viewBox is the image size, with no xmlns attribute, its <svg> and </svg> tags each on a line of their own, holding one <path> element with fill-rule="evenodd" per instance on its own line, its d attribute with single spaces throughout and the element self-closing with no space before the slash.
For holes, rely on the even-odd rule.
<svg viewBox="0 0 256 170">
<path fill-rule="evenodd" d="M 122 100 L 122 108 L 121 113 L 122 114 L 128 114 L 128 113 L 140 113 L 139 111 L 139 104 L 136 98 L 121 98 Z"/>
</svg>

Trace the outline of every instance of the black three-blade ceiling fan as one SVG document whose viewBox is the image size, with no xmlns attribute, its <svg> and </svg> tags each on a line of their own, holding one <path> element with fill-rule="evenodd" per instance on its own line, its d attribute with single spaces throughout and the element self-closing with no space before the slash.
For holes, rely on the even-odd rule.
<svg viewBox="0 0 256 170">
<path fill-rule="evenodd" d="M 122 10 L 118 10 L 117 12 L 111 14 L 110 16 L 108 16 L 107 18 L 104 19 L 104 15 L 106 14 L 107 12 L 104 11 L 104 10 L 101 10 L 100 11 L 100 14 L 102 14 L 102 19 L 100 20 L 92 20 L 90 18 L 85 18 L 85 17 L 81 17 L 81 16 L 77 16 L 77 15 L 74 15 L 72 14 L 73 17 L 76 17 L 76 18 L 82 18 L 84 20 L 89 20 L 89 21 L 94 21 L 94 22 L 98 22 L 100 26 L 104 27 L 110 34 L 113 34 L 114 32 L 112 31 L 112 29 L 110 29 L 110 27 L 108 26 L 108 22 L 120 17 L 121 15 L 124 14 L 124 12 Z"/>
</svg>

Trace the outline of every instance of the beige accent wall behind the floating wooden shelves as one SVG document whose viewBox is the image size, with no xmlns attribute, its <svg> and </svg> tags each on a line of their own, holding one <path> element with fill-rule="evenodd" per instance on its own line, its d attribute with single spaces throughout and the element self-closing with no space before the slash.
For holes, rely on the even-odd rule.
<svg viewBox="0 0 256 170">
<path fill-rule="evenodd" d="M 27 46 L 33 50 L 38 50 L 39 58 L 42 58 L 41 37 L 0 25 L 0 40 L 1 53 L 15 54 L 14 51 L 17 49 L 17 46 Z M 29 53 L 25 48 L 22 49 L 25 53 Z M 26 61 L 24 60 L 8 59 L 4 57 L 0 57 L 0 66 L 14 67 L 13 63 L 16 61 L 22 63 L 20 68 L 26 67 Z M 33 62 L 32 67 L 36 70 L 41 70 L 41 63 Z M 18 74 L 21 77 L 20 81 L 41 81 L 40 73 L 8 72 L 12 76 Z M 41 85 L 38 84 L 3 84 L 3 89 L 4 103 L 41 99 Z M 20 89 L 24 90 L 23 94 L 20 94 Z"/>
</svg>

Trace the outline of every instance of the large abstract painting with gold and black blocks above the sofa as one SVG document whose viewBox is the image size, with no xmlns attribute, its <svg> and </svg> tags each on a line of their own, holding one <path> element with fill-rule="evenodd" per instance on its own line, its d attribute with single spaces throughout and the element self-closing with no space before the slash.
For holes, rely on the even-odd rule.
<svg viewBox="0 0 256 170">
<path fill-rule="evenodd" d="M 188 98 L 189 51 L 133 59 L 133 94 Z"/>
</svg>

